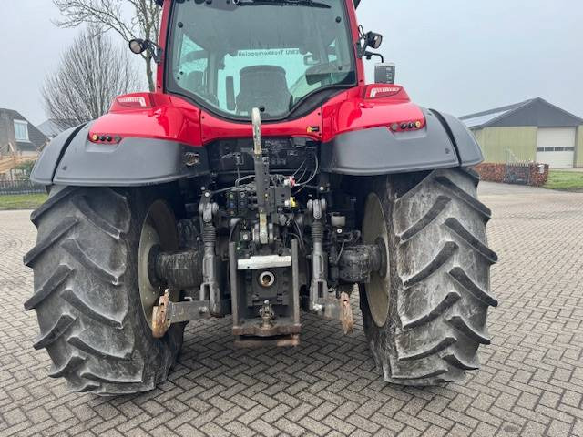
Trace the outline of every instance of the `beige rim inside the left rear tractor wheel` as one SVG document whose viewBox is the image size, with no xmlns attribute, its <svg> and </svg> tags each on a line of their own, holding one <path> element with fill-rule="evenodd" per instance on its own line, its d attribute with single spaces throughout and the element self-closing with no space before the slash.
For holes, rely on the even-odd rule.
<svg viewBox="0 0 583 437">
<path fill-rule="evenodd" d="M 178 234 L 176 219 L 166 203 L 161 200 L 154 202 L 148 209 L 142 225 L 138 249 L 138 288 L 144 317 L 149 327 L 152 327 L 152 310 L 158 305 L 162 292 L 158 286 L 151 283 L 148 273 L 148 257 L 151 249 L 159 247 L 164 251 L 178 249 Z M 176 301 L 176 291 L 170 295 L 170 300 Z"/>
</svg>

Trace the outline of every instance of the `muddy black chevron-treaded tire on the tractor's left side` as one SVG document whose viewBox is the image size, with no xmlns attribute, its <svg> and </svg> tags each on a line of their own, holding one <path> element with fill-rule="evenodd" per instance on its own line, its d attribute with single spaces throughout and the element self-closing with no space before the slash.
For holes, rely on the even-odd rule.
<svg viewBox="0 0 583 437">
<path fill-rule="evenodd" d="M 50 355 L 49 376 L 71 391 L 149 391 L 177 359 L 184 324 L 155 339 L 138 290 L 140 236 L 155 201 L 139 189 L 53 188 L 31 216 L 38 237 L 25 264 L 36 291 L 25 308 L 36 310 L 34 346 Z"/>
</svg>

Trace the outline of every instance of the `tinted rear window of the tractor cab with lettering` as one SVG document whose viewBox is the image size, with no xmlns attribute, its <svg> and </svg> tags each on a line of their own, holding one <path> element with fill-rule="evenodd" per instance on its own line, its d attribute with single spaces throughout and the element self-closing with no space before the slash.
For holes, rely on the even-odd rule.
<svg viewBox="0 0 583 437">
<path fill-rule="evenodd" d="M 168 91 L 225 117 L 288 117 L 320 91 L 356 84 L 343 0 L 175 2 Z"/>
</svg>

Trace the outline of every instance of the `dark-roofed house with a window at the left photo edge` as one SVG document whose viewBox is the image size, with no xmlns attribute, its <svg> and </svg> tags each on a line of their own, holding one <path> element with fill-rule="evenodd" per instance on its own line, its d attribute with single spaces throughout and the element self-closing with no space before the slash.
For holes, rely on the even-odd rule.
<svg viewBox="0 0 583 437">
<path fill-rule="evenodd" d="M 0 108 L 0 156 L 36 157 L 48 138 L 20 113 Z"/>
</svg>

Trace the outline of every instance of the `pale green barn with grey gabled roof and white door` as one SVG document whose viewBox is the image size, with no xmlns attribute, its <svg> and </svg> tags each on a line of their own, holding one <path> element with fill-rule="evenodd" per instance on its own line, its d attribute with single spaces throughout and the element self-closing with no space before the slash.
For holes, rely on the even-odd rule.
<svg viewBox="0 0 583 437">
<path fill-rule="evenodd" d="M 540 97 L 460 119 L 476 135 L 486 162 L 583 167 L 583 119 Z"/>
</svg>

